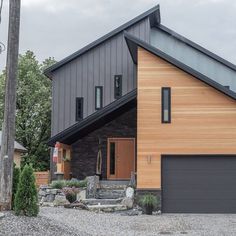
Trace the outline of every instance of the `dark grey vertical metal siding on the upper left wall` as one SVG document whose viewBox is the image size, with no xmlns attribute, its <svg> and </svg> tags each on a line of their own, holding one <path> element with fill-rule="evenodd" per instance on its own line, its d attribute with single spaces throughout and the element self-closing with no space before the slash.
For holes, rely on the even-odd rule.
<svg viewBox="0 0 236 236">
<path fill-rule="evenodd" d="M 127 31 L 149 42 L 149 18 Z M 136 66 L 123 32 L 57 69 L 52 77 L 52 136 L 75 123 L 76 97 L 84 97 L 84 118 L 95 112 L 95 86 L 103 86 L 103 106 L 114 101 L 116 74 L 122 75 L 123 95 L 136 88 Z"/>
</svg>

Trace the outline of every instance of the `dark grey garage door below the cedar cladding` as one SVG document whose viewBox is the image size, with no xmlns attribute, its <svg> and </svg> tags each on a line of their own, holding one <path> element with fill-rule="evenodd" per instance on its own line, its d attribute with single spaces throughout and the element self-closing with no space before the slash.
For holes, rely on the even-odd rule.
<svg viewBox="0 0 236 236">
<path fill-rule="evenodd" d="M 236 213 L 236 156 L 162 156 L 162 211 Z"/>
</svg>

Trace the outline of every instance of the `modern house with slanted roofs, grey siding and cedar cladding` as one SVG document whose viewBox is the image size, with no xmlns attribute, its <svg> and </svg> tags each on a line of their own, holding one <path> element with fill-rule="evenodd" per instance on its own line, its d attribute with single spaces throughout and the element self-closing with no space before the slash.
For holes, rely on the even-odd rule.
<svg viewBox="0 0 236 236">
<path fill-rule="evenodd" d="M 163 26 L 159 5 L 45 74 L 53 173 L 135 173 L 163 212 L 236 213 L 236 66 Z"/>
</svg>

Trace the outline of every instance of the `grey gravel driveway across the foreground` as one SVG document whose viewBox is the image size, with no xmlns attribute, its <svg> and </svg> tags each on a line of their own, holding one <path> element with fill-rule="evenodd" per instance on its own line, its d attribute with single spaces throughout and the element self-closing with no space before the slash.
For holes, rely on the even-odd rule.
<svg viewBox="0 0 236 236">
<path fill-rule="evenodd" d="M 37 218 L 0 219 L 0 235 L 236 235 L 236 215 L 124 216 L 76 209 L 41 208 Z"/>
</svg>

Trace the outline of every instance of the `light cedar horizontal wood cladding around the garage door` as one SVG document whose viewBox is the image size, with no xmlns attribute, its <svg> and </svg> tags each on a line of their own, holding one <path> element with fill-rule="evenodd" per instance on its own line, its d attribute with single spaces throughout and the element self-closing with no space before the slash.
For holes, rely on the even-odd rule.
<svg viewBox="0 0 236 236">
<path fill-rule="evenodd" d="M 171 123 L 161 88 L 171 87 Z M 137 187 L 161 188 L 161 154 L 235 154 L 236 101 L 138 49 Z"/>
</svg>

